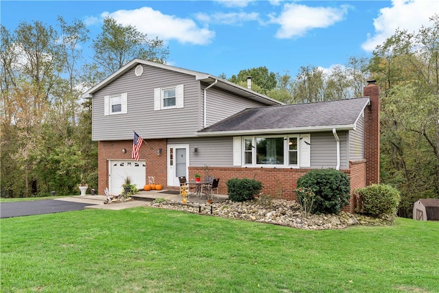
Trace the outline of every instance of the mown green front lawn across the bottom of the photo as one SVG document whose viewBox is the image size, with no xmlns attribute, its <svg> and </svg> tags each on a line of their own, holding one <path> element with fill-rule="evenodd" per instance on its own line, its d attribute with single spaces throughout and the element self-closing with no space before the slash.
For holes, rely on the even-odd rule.
<svg viewBox="0 0 439 293">
<path fill-rule="evenodd" d="M 1 219 L 1 292 L 439 292 L 439 223 L 303 231 L 164 209 Z"/>
</svg>

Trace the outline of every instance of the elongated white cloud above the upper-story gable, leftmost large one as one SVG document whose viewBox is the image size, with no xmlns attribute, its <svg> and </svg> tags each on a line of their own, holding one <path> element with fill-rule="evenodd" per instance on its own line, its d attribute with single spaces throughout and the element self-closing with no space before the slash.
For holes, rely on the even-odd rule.
<svg viewBox="0 0 439 293">
<path fill-rule="evenodd" d="M 149 7 L 135 10 L 118 10 L 104 12 L 104 17 L 111 17 L 122 25 L 132 25 L 147 34 L 149 38 L 158 36 L 161 40 L 178 40 L 180 43 L 206 45 L 211 43 L 215 32 L 207 27 L 198 27 L 192 19 L 181 19 L 174 15 L 162 14 Z"/>
</svg>

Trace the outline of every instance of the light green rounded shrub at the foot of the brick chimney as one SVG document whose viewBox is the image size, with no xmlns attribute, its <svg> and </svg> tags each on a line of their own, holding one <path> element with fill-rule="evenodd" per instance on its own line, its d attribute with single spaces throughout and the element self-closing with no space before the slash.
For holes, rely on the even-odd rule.
<svg viewBox="0 0 439 293">
<path fill-rule="evenodd" d="M 372 184 L 355 189 L 355 194 L 358 196 L 357 213 L 364 213 L 372 217 L 396 215 L 401 200 L 399 191 L 385 184 Z"/>
</svg>

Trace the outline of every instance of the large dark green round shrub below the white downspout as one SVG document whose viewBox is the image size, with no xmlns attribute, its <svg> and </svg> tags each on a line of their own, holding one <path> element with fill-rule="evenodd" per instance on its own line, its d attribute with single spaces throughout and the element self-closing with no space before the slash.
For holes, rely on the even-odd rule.
<svg viewBox="0 0 439 293">
<path fill-rule="evenodd" d="M 316 195 L 311 213 L 340 213 L 351 196 L 348 176 L 335 169 L 311 170 L 298 178 L 297 186 L 307 187 Z"/>
</svg>

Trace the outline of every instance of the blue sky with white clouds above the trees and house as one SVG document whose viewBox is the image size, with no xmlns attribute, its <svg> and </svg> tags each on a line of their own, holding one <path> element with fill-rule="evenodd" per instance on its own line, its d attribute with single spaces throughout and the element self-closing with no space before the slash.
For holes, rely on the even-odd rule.
<svg viewBox="0 0 439 293">
<path fill-rule="evenodd" d="M 169 46 L 169 65 L 230 78 L 265 66 L 296 75 L 301 66 L 330 69 L 372 49 L 397 28 L 417 32 L 439 14 L 438 0 L 393 1 L 5 1 L 1 24 L 56 25 L 79 19 L 101 32 L 111 16 Z M 84 56 L 92 52 L 87 45 Z"/>
</svg>

